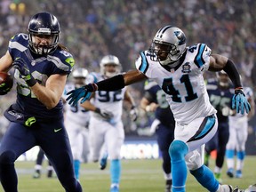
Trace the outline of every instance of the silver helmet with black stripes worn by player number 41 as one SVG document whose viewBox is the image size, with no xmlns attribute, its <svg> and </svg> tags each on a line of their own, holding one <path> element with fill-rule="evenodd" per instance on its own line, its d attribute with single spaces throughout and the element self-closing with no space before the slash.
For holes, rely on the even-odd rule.
<svg viewBox="0 0 256 192">
<path fill-rule="evenodd" d="M 149 48 L 150 60 L 172 65 L 186 51 L 186 36 L 180 28 L 170 25 L 160 28 Z"/>
</svg>

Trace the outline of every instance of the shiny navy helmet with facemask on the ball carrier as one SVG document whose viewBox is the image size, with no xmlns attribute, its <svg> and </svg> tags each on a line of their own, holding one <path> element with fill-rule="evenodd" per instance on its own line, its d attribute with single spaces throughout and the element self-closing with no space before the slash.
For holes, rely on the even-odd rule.
<svg viewBox="0 0 256 192">
<path fill-rule="evenodd" d="M 28 23 L 28 44 L 32 52 L 45 55 L 56 50 L 59 43 L 60 23 L 49 12 L 39 12 Z M 37 44 L 36 36 L 51 39 L 50 44 Z"/>
</svg>

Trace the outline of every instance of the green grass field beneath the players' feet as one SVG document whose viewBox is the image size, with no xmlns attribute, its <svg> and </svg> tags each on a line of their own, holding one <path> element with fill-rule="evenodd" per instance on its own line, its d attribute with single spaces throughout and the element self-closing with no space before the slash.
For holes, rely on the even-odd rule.
<svg viewBox="0 0 256 192">
<path fill-rule="evenodd" d="M 19 176 L 19 192 L 63 192 L 57 178 L 48 179 L 45 175 L 46 163 L 41 179 L 33 179 L 34 162 L 16 162 Z M 211 160 L 211 167 L 213 166 Z M 247 188 L 256 182 L 256 156 L 246 156 L 244 164 L 243 179 L 229 179 L 226 176 L 226 164 L 223 168 L 223 182 L 240 188 Z M 162 161 L 159 160 L 123 160 L 122 161 L 122 181 L 121 192 L 163 192 L 164 176 L 162 172 Z M 82 164 L 81 183 L 85 192 L 108 192 L 109 191 L 109 171 L 98 169 L 98 164 Z M 4 191 L 0 187 L 0 191 Z M 188 173 L 188 192 L 206 191 Z"/>
</svg>

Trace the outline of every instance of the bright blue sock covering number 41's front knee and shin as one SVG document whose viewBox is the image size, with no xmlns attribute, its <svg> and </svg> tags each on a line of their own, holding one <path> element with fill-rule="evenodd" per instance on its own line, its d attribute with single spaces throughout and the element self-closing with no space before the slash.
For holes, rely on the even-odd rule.
<svg viewBox="0 0 256 192">
<path fill-rule="evenodd" d="M 181 140 L 174 140 L 169 148 L 172 164 L 172 192 L 185 191 L 187 180 L 187 165 L 185 156 L 188 154 L 188 146 Z"/>
</svg>

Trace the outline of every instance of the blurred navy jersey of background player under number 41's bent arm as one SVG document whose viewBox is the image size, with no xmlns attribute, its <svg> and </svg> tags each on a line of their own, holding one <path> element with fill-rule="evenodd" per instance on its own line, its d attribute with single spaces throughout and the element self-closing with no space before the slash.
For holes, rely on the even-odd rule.
<svg viewBox="0 0 256 192">
<path fill-rule="evenodd" d="M 228 115 L 222 113 L 223 108 L 231 108 L 231 101 L 234 95 L 234 89 L 229 84 L 227 88 L 221 87 L 216 79 L 209 79 L 207 81 L 207 92 L 209 94 L 212 106 L 217 110 L 219 122 L 228 121 Z"/>
</svg>

